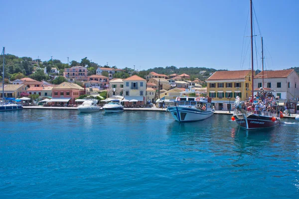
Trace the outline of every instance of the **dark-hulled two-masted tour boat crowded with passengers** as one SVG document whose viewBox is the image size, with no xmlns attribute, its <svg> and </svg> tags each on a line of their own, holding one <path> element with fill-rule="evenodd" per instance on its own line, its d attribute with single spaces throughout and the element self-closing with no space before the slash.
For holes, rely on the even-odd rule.
<svg viewBox="0 0 299 199">
<path fill-rule="evenodd" d="M 251 21 L 251 71 L 252 71 L 252 96 L 250 102 L 245 104 L 240 101 L 237 96 L 235 101 L 235 111 L 232 120 L 245 129 L 263 129 L 269 127 L 275 127 L 279 124 L 277 121 L 277 110 L 274 109 L 275 101 L 267 101 L 268 93 L 275 92 L 274 90 L 264 88 L 264 53 L 262 50 L 262 61 L 263 61 L 263 83 L 262 87 L 254 89 L 254 68 L 253 68 L 253 13 L 252 13 L 252 0 L 250 0 L 250 21 Z M 262 37 L 262 48 L 263 48 L 263 37 Z M 261 100 L 254 101 L 254 92 L 260 92 Z M 250 105 L 250 106 L 247 106 Z M 262 106 L 262 110 L 260 107 Z M 266 111 L 266 106 L 268 110 Z M 253 109 L 254 108 L 254 109 Z"/>
</svg>

